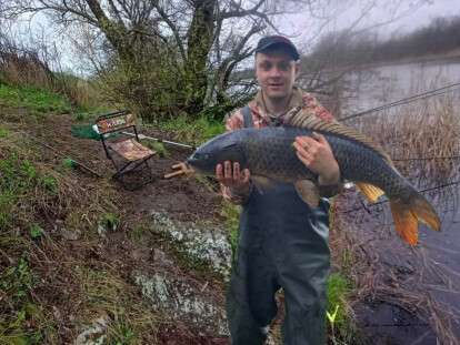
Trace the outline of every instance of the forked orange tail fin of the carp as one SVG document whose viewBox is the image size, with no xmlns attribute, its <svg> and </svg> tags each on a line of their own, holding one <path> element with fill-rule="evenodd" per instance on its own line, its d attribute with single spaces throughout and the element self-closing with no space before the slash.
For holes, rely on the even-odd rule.
<svg viewBox="0 0 460 345">
<path fill-rule="evenodd" d="M 440 231 L 441 221 L 433 206 L 418 192 L 411 193 L 409 202 L 390 199 L 394 227 L 403 241 L 410 245 L 418 242 L 418 223 L 422 222 L 434 231 Z"/>
</svg>

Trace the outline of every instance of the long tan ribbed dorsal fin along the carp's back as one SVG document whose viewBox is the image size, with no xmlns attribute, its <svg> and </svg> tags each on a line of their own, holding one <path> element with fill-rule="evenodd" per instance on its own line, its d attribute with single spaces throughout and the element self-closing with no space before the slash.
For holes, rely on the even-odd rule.
<svg viewBox="0 0 460 345">
<path fill-rule="evenodd" d="M 346 136 L 348 139 L 354 140 L 360 142 L 361 144 L 368 146 L 376 151 L 379 155 L 382 156 L 383 160 L 387 161 L 391 166 L 393 163 L 390 156 L 383 151 L 382 146 L 376 143 L 369 136 L 358 132 L 357 130 L 341 124 L 339 122 L 332 121 L 328 122 L 317 116 L 309 114 L 308 112 L 303 112 L 302 108 L 297 106 L 296 109 L 291 110 L 284 115 L 283 123 L 290 126 L 297 126 L 302 129 L 308 129 L 311 131 L 318 131 L 322 133 L 331 133 L 339 136 Z"/>
</svg>

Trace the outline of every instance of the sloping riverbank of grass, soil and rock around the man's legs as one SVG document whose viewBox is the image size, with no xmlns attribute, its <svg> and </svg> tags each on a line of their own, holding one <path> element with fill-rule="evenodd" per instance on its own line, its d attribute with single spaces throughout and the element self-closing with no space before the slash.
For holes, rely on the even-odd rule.
<svg viewBox="0 0 460 345">
<path fill-rule="evenodd" d="M 76 129 L 90 126 L 91 114 L 62 114 L 68 105 L 56 104 L 31 111 L 30 104 L 3 102 L 0 109 L 0 264 L 6 272 L 0 284 L 7 301 L 0 336 L 30 344 L 227 344 L 224 291 L 238 210 L 223 205 L 208 180 L 164 180 L 164 172 L 190 153 L 169 146 L 152 161 L 152 183 L 123 190 L 110 179 L 113 169 L 101 143 L 76 135 Z M 141 131 L 171 138 L 158 129 Z M 349 193 L 338 207 L 360 205 L 353 201 L 357 192 Z M 417 341 L 420 325 L 432 328 L 419 308 L 399 298 L 394 284 L 404 277 L 397 274 L 401 268 L 376 265 L 380 258 L 369 256 L 376 247 L 351 236 L 351 220 L 337 216 L 332 223 L 330 343 L 388 344 L 391 338 L 398 344 Z M 383 316 L 398 318 L 390 327 Z M 280 344 L 281 321 L 282 312 L 271 344 Z"/>
</svg>

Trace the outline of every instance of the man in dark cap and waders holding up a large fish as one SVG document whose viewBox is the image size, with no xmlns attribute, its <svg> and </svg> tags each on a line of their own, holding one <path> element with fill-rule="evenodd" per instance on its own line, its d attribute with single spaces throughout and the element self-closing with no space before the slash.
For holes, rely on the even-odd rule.
<svg viewBox="0 0 460 345">
<path fill-rule="evenodd" d="M 256 77 L 260 90 L 248 108 L 227 118 L 228 131 L 243 126 L 282 125 L 294 106 L 324 121 L 330 113 L 310 94 L 293 85 L 299 53 L 280 35 L 262 38 L 256 49 Z M 341 187 L 339 165 L 322 135 L 299 136 L 297 155 L 318 174 L 321 196 Z M 270 148 L 267 148 L 270 150 Z M 232 344 L 257 345 L 267 338 L 277 314 L 274 294 L 284 292 L 284 344 L 326 344 L 326 282 L 329 274 L 329 204 L 322 199 L 311 210 L 292 184 L 259 191 L 250 172 L 238 162 L 216 168 L 223 196 L 243 206 L 240 239 L 227 300 Z"/>
</svg>

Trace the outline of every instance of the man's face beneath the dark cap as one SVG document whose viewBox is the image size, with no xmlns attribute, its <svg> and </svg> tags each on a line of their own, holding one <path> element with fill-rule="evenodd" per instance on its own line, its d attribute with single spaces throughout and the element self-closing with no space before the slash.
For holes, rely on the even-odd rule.
<svg viewBox="0 0 460 345">
<path fill-rule="evenodd" d="M 282 50 L 259 52 L 256 55 L 256 78 L 266 97 L 277 100 L 289 97 L 298 64 Z"/>
</svg>

